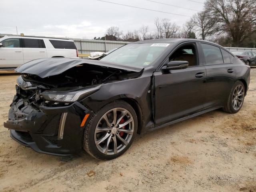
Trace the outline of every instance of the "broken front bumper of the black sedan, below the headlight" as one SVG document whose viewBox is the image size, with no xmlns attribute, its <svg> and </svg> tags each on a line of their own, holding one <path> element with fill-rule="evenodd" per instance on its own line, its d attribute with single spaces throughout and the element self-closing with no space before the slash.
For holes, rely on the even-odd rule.
<svg viewBox="0 0 256 192">
<path fill-rule="evenodd" d="M 92 111 L 79 102 L 39 108 L 25 103 L 22 98 L 14 96 L 9 119 L 4 122 L 14 140 L 44 154 L 70 156 L 81 152 L 86 125 L 81 127 L 81 122 Z"/>
</svg>

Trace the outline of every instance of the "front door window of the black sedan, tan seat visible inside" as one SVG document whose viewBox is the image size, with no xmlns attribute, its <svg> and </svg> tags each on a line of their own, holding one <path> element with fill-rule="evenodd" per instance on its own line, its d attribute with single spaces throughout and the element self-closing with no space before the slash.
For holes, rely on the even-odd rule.
<svg viewBox="0 0 256 192">
<path fill-rule="evenodd" d="M 198 65 L 196 45 L 189 44 L 178 48 L 170 57 L 170 61 L 188 61 L 188 66 Z"/>
</svg>

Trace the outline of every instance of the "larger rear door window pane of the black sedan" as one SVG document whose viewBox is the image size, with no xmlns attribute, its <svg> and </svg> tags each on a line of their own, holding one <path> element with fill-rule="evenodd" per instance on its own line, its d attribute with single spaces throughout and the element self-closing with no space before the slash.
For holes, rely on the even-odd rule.
<svg viewBox="0 0 256 192">
<path fill-rule="evenodd" d="M 206 60 L 206 65 L 214 65 L 214 64 L 222 64 L 223 63 L 223 58 L 222 54 L 220 52 L 220 48 L 201 43 L 202 49 L 204 52 L 204 57 Z"/>
</svg>

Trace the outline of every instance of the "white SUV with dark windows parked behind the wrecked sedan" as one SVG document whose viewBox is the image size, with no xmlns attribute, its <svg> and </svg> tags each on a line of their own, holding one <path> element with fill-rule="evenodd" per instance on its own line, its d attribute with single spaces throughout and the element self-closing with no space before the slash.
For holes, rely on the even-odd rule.
<svg viewBox="0 0 256 192">
<path fill-rule="evenodd" d="M 78 58 L 72 40 L 5 36 L 0 38 L 0 70 L 13 69 L 38 58 Z"/>
</svg>

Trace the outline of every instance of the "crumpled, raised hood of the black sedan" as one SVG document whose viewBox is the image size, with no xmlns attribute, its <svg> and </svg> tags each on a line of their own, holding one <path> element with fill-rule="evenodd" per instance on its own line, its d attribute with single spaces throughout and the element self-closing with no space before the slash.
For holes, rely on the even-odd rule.
<svg viewBox="0 0 256 192">
<path fill-rule="evenodd" d="M 38 75 L 41 78 L 45 78 L 48 76 L 61 74 L 64 71 L 81 64 L 91 64 L 102 67 L 116 68 L 120 70 L 129 70 L 134 72 L 140 72 L 143 69 L 142 67 L 118 65 L 115 63 L 100 60 L 76 58 L 42 58 L 27 62 L 16 68 L 15 71 L 24 74 L 34 74 Z"/>
</svg>

